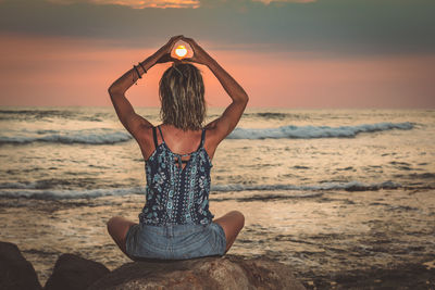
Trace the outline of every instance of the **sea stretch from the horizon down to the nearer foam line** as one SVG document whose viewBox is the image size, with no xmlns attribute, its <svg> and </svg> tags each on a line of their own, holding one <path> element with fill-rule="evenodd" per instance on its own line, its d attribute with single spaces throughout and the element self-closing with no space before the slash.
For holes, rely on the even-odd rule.
<svg viewBox="0 0 435 290">
<path fill-rule="evenodd" d="M 209 110 L 208 121 L 222 110 Z M 139 109 L 160 124 L 158 109 Z M 212 161 L 212 192 L 435 186 L 435 112 L 247 110 Z M 0 194 L 142 194 L 144 159 L 111 108 L 3 108 Z"/>
</svg>

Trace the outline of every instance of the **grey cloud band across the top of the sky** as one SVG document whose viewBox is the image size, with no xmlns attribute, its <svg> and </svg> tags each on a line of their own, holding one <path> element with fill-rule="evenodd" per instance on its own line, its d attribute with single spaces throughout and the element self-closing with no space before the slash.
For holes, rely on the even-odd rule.
<svg viewBox="0 0 435 290">
<path fill-rule="evenodd" d="M 157 47 L 183 34 L 220 49 L 435 53 L 433 0 L 159 1 L 166 9 L 156 0 L 49 1 L 0 0 L 0 33 L 110 39 L 130 48 Z M 194 2 L 199 7 L 169 8 Z"/>
</svg>

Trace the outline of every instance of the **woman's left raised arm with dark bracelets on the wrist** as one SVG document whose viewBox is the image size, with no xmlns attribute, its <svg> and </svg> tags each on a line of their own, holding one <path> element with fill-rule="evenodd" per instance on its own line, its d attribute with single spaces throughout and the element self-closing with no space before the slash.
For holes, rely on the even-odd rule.
<svg viewBox="0 0 435 290">
<path fill-rule="evenodd" d="M 171 50 L 175 42 L 178 41 L 183 36 L 172 37 L 166 45 L 161 47 L 156 53 L 140 62 L 136 68 L 132 68 L 116 79 L 109 87 L 109 94 L 112 100 L 113 106 L 115 108 L 117 117 L 124 127 L 137 139 L 137 133 L 141 127 L 152 127 L 142 116 L 136 114 L 130 102 L 125 98 L 125 92 L 135 84 L 139 75 L 144 75 L 146 71 L 150 70 L 156 63 L 163 63 L 173 61 L 171 59 Z"/>
</svg>

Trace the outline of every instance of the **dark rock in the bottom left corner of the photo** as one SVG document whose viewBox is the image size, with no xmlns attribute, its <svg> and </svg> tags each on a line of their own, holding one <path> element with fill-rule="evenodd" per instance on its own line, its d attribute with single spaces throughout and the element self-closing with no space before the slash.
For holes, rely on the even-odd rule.
<svg viewBox="0 0 435 290">
<path fill-rule="evenodd" d="M 34 266 L 16 244 L 0 241 L 0 289 L 41 289 Z"/>
</svg>

